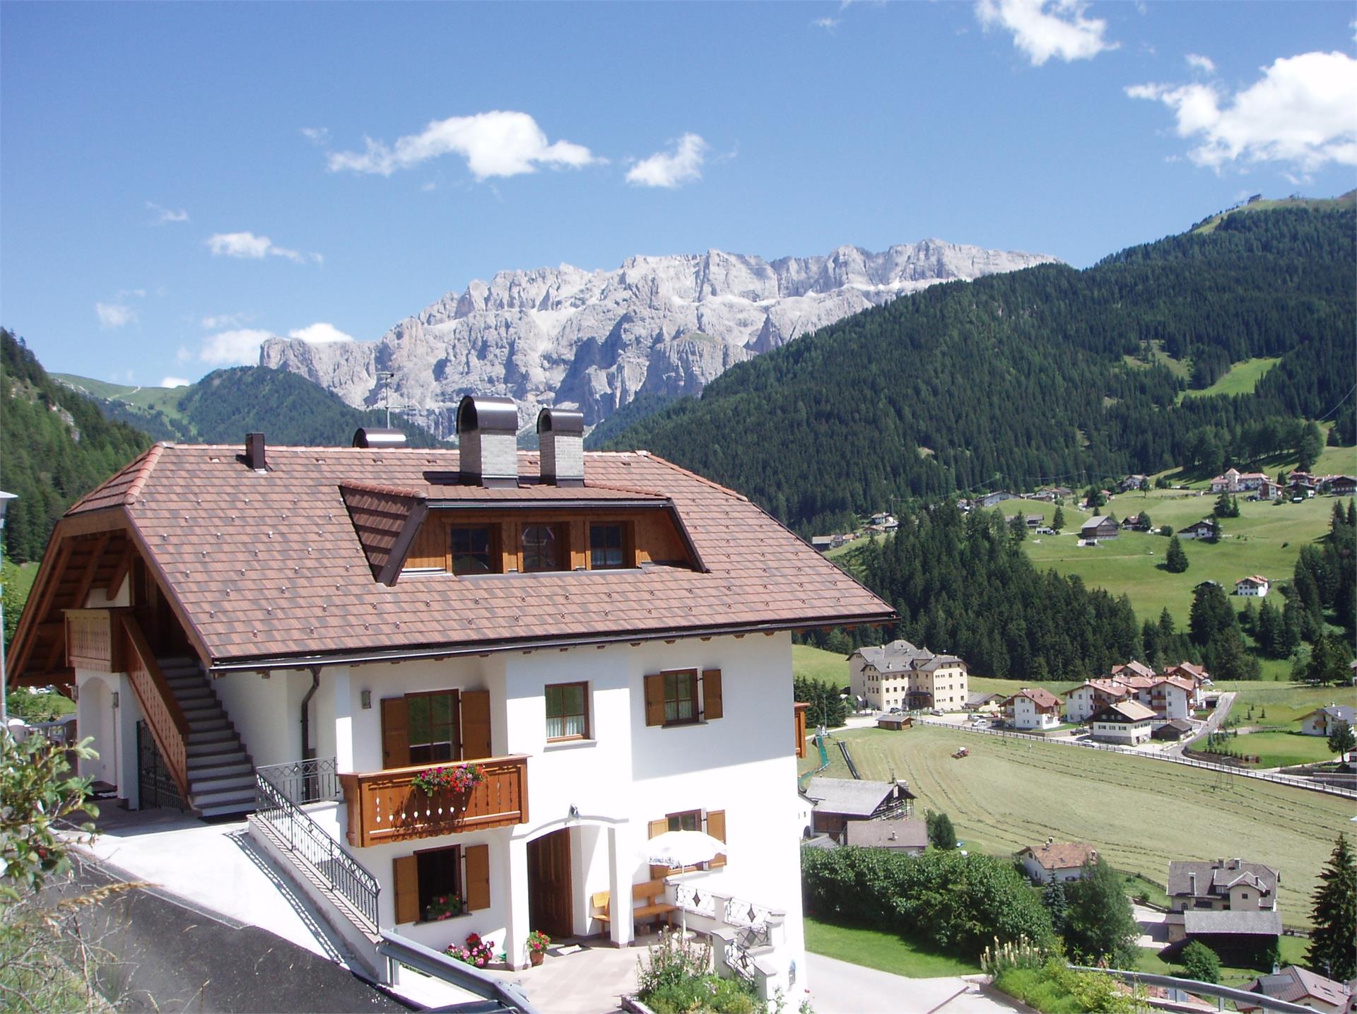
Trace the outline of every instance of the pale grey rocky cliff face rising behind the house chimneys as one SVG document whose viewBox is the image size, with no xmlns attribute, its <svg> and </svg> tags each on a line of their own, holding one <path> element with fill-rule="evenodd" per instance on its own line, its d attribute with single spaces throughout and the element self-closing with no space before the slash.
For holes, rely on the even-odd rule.
<svg viewBox="0 0 1357 1014">
<path fill-rule="evenodd" d="M 468 392 L 509 395 L 531 424 L 548 405 L 597 424 L 641 392 L 697 394 L 735 362 L 849 314 L 943 281 L 1056 258 L 923 240 L 881 254 L 634 257 L 612 271 L 569 265 L 501 271 L 448 293 L 376 342 L 271 338 L 259 362 L 289 369 L 356 407 L 392 405 L 452 436 Z"/>
</svg>

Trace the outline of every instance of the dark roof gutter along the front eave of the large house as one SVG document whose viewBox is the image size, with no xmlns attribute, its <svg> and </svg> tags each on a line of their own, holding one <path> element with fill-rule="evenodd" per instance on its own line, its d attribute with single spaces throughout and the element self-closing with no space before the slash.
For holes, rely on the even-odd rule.
<svg viewBox="0 0 1357 1014">
<path fill-rule="evenodd" d="M 584 637 L 535 638 L 533 641 L 490 641 L 457 647 L 415 647 L 391 649 L 387 652 L 335 652 L 326 654 L 296 654 L 296 656 L 247 656 L 231 661 L 221 661 L 208 666 L 213 676 L 225 676 L 231 672 L 254 672 L 258 669 L 305 669 L 327 665 L 364 665 L 369 662 L 404 662 L 432 658 L 461 658 L 474 654 L 489 654 L 493 652 L 537 652 L 546 649 L 589 647 L 590 645 L 603 647 L 604 645 L 619 645 L 632 641 L 673 641 L 677 637 L 727 637 L 744 634 L 775 634 L 784 630 L 810 630 L 826 627 L 849 627 L 864 624 L 894 623 L 900 616 L 894 612 L 875 612 L 860 616 L 835 616 L 833 619 L 784 620 L 773 623 L 727 623 L 710 627 L 692 627 L 688 630 L 638 630 L 609 634 L 593 634 Z"/>
</svg>

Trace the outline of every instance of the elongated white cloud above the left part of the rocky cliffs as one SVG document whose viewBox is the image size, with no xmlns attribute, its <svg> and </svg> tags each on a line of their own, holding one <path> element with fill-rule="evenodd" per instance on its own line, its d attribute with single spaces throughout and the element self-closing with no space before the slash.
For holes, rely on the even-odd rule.
<svg viewBox="0 0 1357 1014">
<path fill-rule="evenodd" d="M 434 119 L 418 134 L 396 138 L 387 147 L 365 137 L 362 152 L 331 152 L 331 172 L 376 172 L 389 176 L 440 155 L 460 155 L 476 179 L 536 172 L 539 166 L 578 168 L 603 162 L 588 148 L 570 141 L 547 144 L 547 134 L 527 113 L 495 110 L 471 117 Z"/>
</svg>

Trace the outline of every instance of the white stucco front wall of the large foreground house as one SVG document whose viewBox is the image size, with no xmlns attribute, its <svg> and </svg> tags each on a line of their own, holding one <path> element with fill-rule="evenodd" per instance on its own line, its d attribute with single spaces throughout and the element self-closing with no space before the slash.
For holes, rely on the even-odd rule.
<svg viewBox="0 0 1357 1014">
<path fill-rule="evenodd" d="M 645 676 L 681 668 L 722 671 L 723 717 L 696 725 L 647 728 Z M 322 675 L 323 688 L 327 679 L 328 675 Z M 267 681 L 255 676 L 252 683 L 242 686 L 258 690 L 275 681 L 277 675 Z M 548 744 L 544 687 L 573 681 L 589 684 L 590 738 Z M 342 692 L 343 683 L 347 694 Z M 693 809 L 725 810 L 727 865 L 689 874 L 685 882 L 786 911 L 787 943 L 803 975 L 801 825 L 791 791 L 797 760 L 788 736 L 794 721 L 788 634 L 351 666 L 335 686 L 338 690 L 316 695 L 318 725 L 349 726 L 349 733 L 343 733 L 351 734 L 353 743 L 349 770 L 381 768 L 381 698 L 452 687 L 489 690 L 494 753 L 531 757 L 528 824 L 351 850 L 381 881 L 384 924 L 389 926 L 395 918 L 395 857 L 484 842 L 491 846 L 490 909 L 442 923 L 403 924 L 400 931 L 442 947 L 475 930 L 501 945 L 505 933 L 516 926 L 509 911 L 512 885 L 517 886 L 510 855 L 524 850 L 528 839 L 570 827 L 575 931 L 597 931 L 600 924 L 586 916 L 589 896 L 609 889 L 609 828 L 620 843 L 617 858 L 623 873 L 635 884 L 650 878 L 639 854 L 650 820 Z M 361 707 L 364 690 L 372 691 L 370 709 Z M 271 694 L 273 703 L 251 706 L 251 715 L 280 710 L 277 690 Z M 263 715 L 258 718 L 263 728 Z M 294 709 L 288 710 L 286 722 L 296 725 Z M 339 732 L 327 736 L 342 738 Z M 331 740 L 322 737 L 318 744 Z M 570 817 L 571 806 L 578 819 Z"/>
</svg>

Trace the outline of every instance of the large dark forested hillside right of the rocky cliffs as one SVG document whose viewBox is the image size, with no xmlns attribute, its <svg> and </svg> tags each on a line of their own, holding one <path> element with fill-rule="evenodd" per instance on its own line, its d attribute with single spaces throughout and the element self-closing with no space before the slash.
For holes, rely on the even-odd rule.
<svg viewBox="0 0 1357 1014">
<path fill-rule="evenodd" d="M 1335 413 L 1352 443 L 1354 227 L 1350 201 L 1231 214 L 1086 270 L 939 285 L 740 364 L 608 447 L 810 533 L 955 490 L 1244 464 L 1296 440 L 1297 418 Z M 1263 356 L 1281 361 L 1254 394 L 1175 403 Z M 1171 367 L 1187 361 L 1185 380 Z"/>
</svg>

